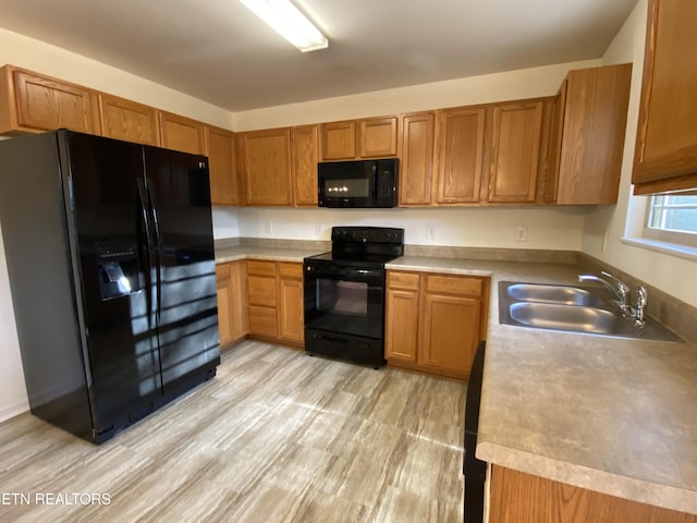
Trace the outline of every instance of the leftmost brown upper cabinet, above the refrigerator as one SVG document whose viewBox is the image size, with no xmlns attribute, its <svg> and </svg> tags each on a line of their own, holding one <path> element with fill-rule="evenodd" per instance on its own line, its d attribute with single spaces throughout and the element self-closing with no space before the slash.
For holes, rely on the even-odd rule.
<svg viewBox="0 0 697 523">
<path fill-rule="evenodd" d="M 39 133 L 66 127 L 98 129 L 96 93 L 13 65 L 0 69 L 0 133 Z"/>
</svg>

